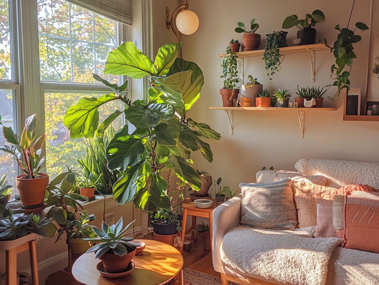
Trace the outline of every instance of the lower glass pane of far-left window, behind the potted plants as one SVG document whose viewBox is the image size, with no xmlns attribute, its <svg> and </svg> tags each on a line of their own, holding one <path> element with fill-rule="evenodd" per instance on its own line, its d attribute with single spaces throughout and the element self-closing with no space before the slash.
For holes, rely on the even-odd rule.
<svg viewBox="0 0 379 285">
<path fill-rule="evenodd" d="M 13 90 L 0 89 L 1 122 L 6 127 L 16 131 L 16 116 L 14 115 Z M 8 144 L 3 135 L 3 126 L 0 125 L 0 145 Z M 0 177 L 7 174 L 9 184 L 14 185 L 17 176 L 17 165 L 10 154 L 0 151 Z"/>
</svg>

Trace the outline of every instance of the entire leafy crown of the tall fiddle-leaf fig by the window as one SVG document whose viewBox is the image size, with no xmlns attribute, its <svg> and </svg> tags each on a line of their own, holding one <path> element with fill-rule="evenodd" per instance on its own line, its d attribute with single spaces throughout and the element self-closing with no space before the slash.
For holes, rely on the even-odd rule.
<svg viewBox="0 0 379 285">
<path fill-rule="evenodd" d="M 220 134 L 205 123 L 187 118 L 188 110 L 200 96 L 204 84 L 201 69 L 194 63 L 177 58 L 182 43 L 166 44 L 153 62 L 132 42 L 121 44 L 109 53 L 105 74 L 126 75 L 134 79 L 148 76 L 149 98 L 130 101 L 122 86 L 110 84 L 112 93 L 81 98 L 64 116 L 71 138 L 93 137 L 121 114 L 136 127 L 129 134 L 125 125 L 111 139 L 106 159 L 111 171 L 119 171 L 113 185 L 113 197 L 121 205 L 134 202 L 144 210 L 170 207 L 168 180 L 176 175 L 183 183 L 199 190 L 201 180 L 191 167 L 191 151 L 198 151 L 212 162 L 213 154 L 206 139 L 220 139 Z M 109 101 L 120 100 L 125 109 L 116 111 L 99 126 L 98 108 Z"/>
</svg>

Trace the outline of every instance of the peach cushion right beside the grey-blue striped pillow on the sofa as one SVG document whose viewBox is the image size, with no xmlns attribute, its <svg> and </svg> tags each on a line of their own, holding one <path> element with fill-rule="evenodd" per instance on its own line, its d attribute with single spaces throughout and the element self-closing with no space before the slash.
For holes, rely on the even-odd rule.
<svg viewBox="0 0 379 285">
<path fill-rule="evenodd" d="M 304 178 L 293 180 L 292 189 L 298 211 L 298 227 L 316 226 L 316 198 L 332 200 L 338 191 L 337 188 L 317 185 Z"/>
</svg>

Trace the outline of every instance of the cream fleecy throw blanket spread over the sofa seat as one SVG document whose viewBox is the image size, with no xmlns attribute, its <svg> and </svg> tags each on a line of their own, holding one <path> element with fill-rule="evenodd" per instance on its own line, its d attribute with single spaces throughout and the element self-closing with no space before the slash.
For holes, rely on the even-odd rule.
<svg viewBox="0 0 379 285">
<path fill-rule="evenodd" d="M 224 237 L 221 260 L 244 274 L 292 285 L 325 285 L 338 238 L 306 231 L 237 227 Z M 243 253 L 243 254 L 241 254 Z"/>
</svg>

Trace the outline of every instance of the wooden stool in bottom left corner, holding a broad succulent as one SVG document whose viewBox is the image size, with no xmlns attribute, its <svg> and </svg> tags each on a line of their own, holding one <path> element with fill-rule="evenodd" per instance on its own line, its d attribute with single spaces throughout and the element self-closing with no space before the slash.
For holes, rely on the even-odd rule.
<svg viewBox="0 0 379 285">
<path fill-rule="evenodd" d="M 29 250 L 31 279 L 33 285 L 39 285 L 36 240 L 37 234 L 28 234 L 17 240 L 2 241 L 0 250 L 5 251 L 6 285 L 17 285 L 17 254 Z"/>
</svg>

